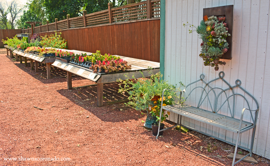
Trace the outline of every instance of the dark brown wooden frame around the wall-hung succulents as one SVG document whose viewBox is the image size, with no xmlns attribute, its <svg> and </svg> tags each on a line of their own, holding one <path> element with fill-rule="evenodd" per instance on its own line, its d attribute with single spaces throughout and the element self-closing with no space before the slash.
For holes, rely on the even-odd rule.
<svg viewBox="0 0 270 166">
<path fill-rule="evenodd" d="M 203 9 L 203 16 L 225 16 L 227 27 L 229 28 L 228 33 L 231 36 L 226 38 L 229 43 L 228 51 L 221 57 L 221 59 L 232 59 L 232 27 L 233 27 L 233 5 L 210 7 Z"/>
</svg>

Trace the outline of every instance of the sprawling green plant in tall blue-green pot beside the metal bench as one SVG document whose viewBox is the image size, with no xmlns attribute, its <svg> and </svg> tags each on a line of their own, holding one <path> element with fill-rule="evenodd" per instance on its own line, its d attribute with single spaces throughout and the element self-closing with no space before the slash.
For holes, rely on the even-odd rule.
<svg viewBox="0 0 270 166">
<path fill-rule="evenodd" d="M 136 81 L 132 81 L 127 75 L 125 76 L 128 78 L 127 80 L 118 80 L 118 82 L 120 82 L 118 93 L 128 92 L 128 99 L 130 101 L 126 103 L 126 105 L 135 110 L 147 110 L 148 114 L 144 123 L 144 126 L 147 128 L 152 128 L 152 124 L 159 120 L 160 110 L 158 109 L 160 108 L 160 96 L 162 96 L 163 90 L 179 90 L 179 88 L 183 86 L 180 82 L 180 87 L 176 89 L 174 85 L 171 85 L 168 81 L 162 79 L 163 75 L 160 72 L 157 74 L 152 73 L 151 79 L 143 76 L 143 78 L 137 79 Z M 133 79 L 135 79 L 134 76 Z M 173 104 L 177 95 L 174 91 L 169 90 L 164 92 L 164 96 L 168 104 Z M 166 120 L 168 114 L 169 112 L 164 112 L 163 110 L 161 120 Z"/>
</svg>

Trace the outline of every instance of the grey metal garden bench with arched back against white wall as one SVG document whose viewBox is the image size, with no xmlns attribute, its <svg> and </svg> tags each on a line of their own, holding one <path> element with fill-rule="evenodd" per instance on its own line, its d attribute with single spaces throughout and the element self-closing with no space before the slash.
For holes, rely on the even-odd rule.
<svg viewBox="0 0 270 166">
<path fill-rule="evenodd" d="M 193 90 L 198 91 L 197 88 L 201 88 L 202 91 L 200 92 L 201 94 L 200 94 L 200 98 L 199 98 L 199 102 L 198 102 L 197 107 L 186 105 L 186 104 L 176 104 L 176 105 L 162 106 L 163 105 L 164 91 L 167 90 L 167 89 L 165 89 L 165 90 L 163 90 L 163 93 L 162 93 L 161 109 L 170 111 L 171 113 L 173 112 L 175 114 L 178 114 L 177 125 L 174 125 L 172 127 L 166 128 L 166 129 L 170 129 L 170 128 L 176 127 L 178 125 L 180 125 L 180 127 L 181 127 L 181 121 L 182 121 L 182 115 L 183 115 L 183 116 L 191 118 L 193 120 L 198 120 L 200 122 L 203 122 L 203 123 L 206 123 L 206 124 L 209 124 L 209 125 L 213 125 L 213 126 L 216 126 L 216 127 L 222 128 L 222 129 L 226 129 L 228 131 L 232 131 L 233 133 L 237 133 L 237 138 L 236 138 L 236 143 L 235 144 L 233 142 L 229 142 L 227 140 L 224 140 L 224 139 L 221 139 L 221 138 L 218 138 L 218 137 L 215 137 L 215 136 L 211 135 L 213 138 L 216 138 L 216 139 L 219 139 L 219 140 L 224 141 L 226 143 L 235 145 L 235 151 L 234 151 L 234 156 L 233 156 L 233 160 L 232 160 L 232 166 L 234 166 L 235 164 L 240 162 L 242 159 L 244 159 L 248 155 L 252 156 L 252 149 L 253 149 L 253 143 L 254 143 L 254 137 L 255 137 L 255 130 L 256 130 L 256 123 L 257 123 L 259 105 L 258 105 L 257 100 L 240 86 L 241 85 L 240 80 L 236 80 L 235 81 L 236 85 L 231 86 L 227 81 L 225 81 L 223 79 L 223 77 L 224 77 L 224 72 L 223 71 L 221 71 L 218 75 L 219 75 L 218 78 L 216 78 L 216 79 L 214 79 L 212 81 L 209 81 L 209 82 L 205 82 L 203 80 L 204 75 L 201 74 L 199 80 L 188 84 L 185 87 L 185 89 L 182 90 L 182 91 L 176 91 L 176 92 L 180 92 L 180 94 L 179 94 L 180 98 L 184 97 L 184 99 L 187 99 L 191 95 Z M 228 86 L 227 89 L 223 90 L 222 88 L 219 88 L 219 87 L 212 88 L 209 85 L 210 83 L 212 83 L 214 81 L 217 81 L 219 79 L 221 79 Z M 197 87 L 192 89 L 191 85 L 195 84 L 195 83 L 197 83 L 199 81 L 202 81 L 202 86 L 197 86 Z M 187 90 L 188 87 L 190 87 L 190 93 L 187 95 L 187 97 L 185 97 L 185 94 L 187 93 L 186 90 Z M 237 88 L 241 89 L 246 95 L 250 96 L 250 98 L 256 103 L 256 106 L 257 106 L 256 110 L 251 109 L 250 104 L 248 103 L 248 100 L 245 97 L 246 95 L 242 95 L 240 93 L 235 93 L 234 89 L 237 89 Z M 217 93 L 216 91 L 219 91 L 219 92 Z M 230 96 L 228 96 L 228 94 L 227 94 L 227 93 L 229 93 L 229 91 L 230 91 L 230 93 L 232 93 L 232 95 L 230 95 Z M 212 93 L 212 96 L 210 96 L 211 93 Z M 225 95 L 226 97 L 225 97 L 225 100 L 220 101 L 218 99 L 222 94 L 223 94 L 223 96 Z M 244 102 L 246 102 L 246 106 L 247 106 L 246 108 L 242 109 L 240 119 L 235 118 L 235 115 L 236 115 L 236 112 L 235 112 L 236 96 L 241 96 L 244 99 Z M 231 99 L 231 98 L 232 98 L 232 102 L 229 102 L 229 99 Z M 213 105 L 211 104 L 211 99 L 213 101 Z M 207 101 L 207 103 L 209 103 L 209 105 L 211 107 L 211 111 L 201 109 L 202 103 L 204 101 Z M 219 107 L 217 106 L 218 101 L 221 103 L 220 104 L 221 106 L 219 106 Z M 225 103 L 227 103 L 226 104 L 226 106 L 227 106 L 226 109 L 229 110 L 230 116 L 217 114 L 222 109 L 222 107 L 225 107 L 224 106 Z M 230 105 L 230 103 L 231 103 L 231 105 Z M 231 106 L 232 106 L 232 109 L 231 109 Z M 250 119 L 251 119 L 250 121 L 251 122 L 247 122 L 247 121 L 243 120 L 243 115 L 244 115 L 244 112 L 246 110 L 248 112 L 250 112 Z M 160 111 L 160 112 L 162 113 L 162 111 Z M 179 115 L 180 115 L 180 123 L 179 123 Z M 160 114 L 160 116 L 161 116 L 161 114 Z M 160 121 L 159 121 L 159 126 L 160 126 Z M 185 126 L 185 125 L 182 125 L 182 126 Z M 188 126 L 185 126 L 185 127 L 190 128 Z M 160 130 L 160 128 L 158 128 L 158 134 L 159 134 L 160 131 L 163 131 L 163 130 L 166 130 L 166 129 Z M 192 128 L 190 128 L 190 129 L 192 129 Z M 238 145 L 238 141 L 239 141 L 240 134 L 245 132 L 245 131 L 248 131 L 250 129 L 253 129 L 253 131 L 252 131 L 250 149 L 248 149 L 246 147 L 242 147 L 242 146 Z M 196 129 L 193 129 L 193 130 L 197 131 Z M 206 133 L 204 133 L 202 131 L 198 131 L 198 132 L 200 132 L 202 134 L 206 134 Z M 209 134 L 206 134 L 206 135 L 209 135 Z M 158 139 L 158 135 L 157 135 L 157 139 Z M 237 153 L 237 147 L 248 150 L 249 154 L 247 154 L 242 159 L 235 162 L 235 157 L 236 157 L 236 153 Z"/>
</svg>

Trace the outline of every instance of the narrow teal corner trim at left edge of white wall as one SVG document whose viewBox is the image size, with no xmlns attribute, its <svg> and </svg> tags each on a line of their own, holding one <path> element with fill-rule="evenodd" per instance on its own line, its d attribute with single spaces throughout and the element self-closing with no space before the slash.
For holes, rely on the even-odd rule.
<svg viewBox="0 0 270 166">
<path fill-rule="evenodd" d="M 160 0 L 160 72 L 165 80 L 165 0 Z"/>
</svg>

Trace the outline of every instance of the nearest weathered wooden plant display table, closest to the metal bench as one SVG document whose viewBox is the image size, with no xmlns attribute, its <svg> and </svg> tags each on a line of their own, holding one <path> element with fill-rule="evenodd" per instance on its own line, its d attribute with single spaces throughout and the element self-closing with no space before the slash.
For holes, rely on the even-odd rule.
<svg viewBox="0 0 270 166">
<path fill-rule="evenodd" d="M 148 67 L 151 67 L 153 74 L 156 74 L 159 72 L 159 63 L 153 62 L 153 61 L 145 61 L 135 58 L 128 58 L 124 56 L 119 56 L 124 61 L 128 61 L 128 64 L 131 65 L 131 70 L 126 71 L 119 71 L 119 72 L 111 72 L 111 73 L 93 73 L 92 70 L 75 65 L 72 63 L 66 63 L 61 60 L 55 60 L 53 62 L 52 66 L 58 67 L 60 69 L 63 69 L 67 71 L 67 80 L 68 80 L 68 89 L 72 89 L 72 74 L 82 76 L 83 78 L 86 78 L 88 80 L 94 81 L 97 83 L 97 105 L 98 107 L 103 106 L 103 84 L 108 82 L 117 81 L 119 78 L 122 80 L 128 79 L 125 74 L 128 74 L 128 76 L 131 78 L 133 75 L 135 78 L 141 78 L 143 77 L 141 72 L 143 72 L 143 75 L 148 77 L 151 76 L 151 74 L 148 71 Z"/>
</svg>

